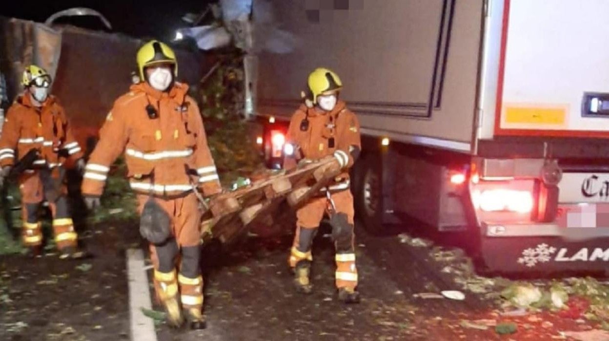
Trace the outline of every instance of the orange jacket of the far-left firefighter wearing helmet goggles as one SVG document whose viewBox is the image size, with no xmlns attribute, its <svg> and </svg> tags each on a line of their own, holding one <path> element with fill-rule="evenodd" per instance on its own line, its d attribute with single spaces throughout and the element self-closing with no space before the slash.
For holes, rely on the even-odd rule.
<svg viewBox="0 0 609 341">
<path fill-rule="evenodd" d="M 32 148 L 40 154 L 40 159 L 34 162 L 37 168 L 54 168 L 66 159 L 82 157 L 65 110 L 54 96 L 49 96 L 41 107 L 35 107 L 26 92 L 7 112 L 0 137 L 0 166 L 14 165 L 16 157 L 23 157 Z"/>
</svg>

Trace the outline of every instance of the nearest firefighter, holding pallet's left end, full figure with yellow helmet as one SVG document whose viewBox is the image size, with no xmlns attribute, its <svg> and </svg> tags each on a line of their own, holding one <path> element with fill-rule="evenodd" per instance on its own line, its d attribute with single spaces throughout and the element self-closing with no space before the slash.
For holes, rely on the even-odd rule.
<svg viewBox="0 0 609 341">
<path fill-rule="evenodd" d="M 183 309 L 191 328 L 201 329 L 205 328 L 199 267 L 202 214 L 194 191 L 211 196 L 222 188 L 199 108 L 186 95 L 188 85 L 175 81 L 174 51 L 160 41 L 149 41 L 139 49 L 137 63 L 142 82 L 132 85 L 108 113 L 85 167 L 82 193 L 87 206 L 99 205 L 110 165 L 124 150 L 127 176 L 139 202 L 140 231 L 143 222 L 158 224 L 163 216 L 167 218 L 160 226 L 167 229 L 166 239 L 147 237 L 157 298 L 172 325 L 183 323 Z"/>
</svg>

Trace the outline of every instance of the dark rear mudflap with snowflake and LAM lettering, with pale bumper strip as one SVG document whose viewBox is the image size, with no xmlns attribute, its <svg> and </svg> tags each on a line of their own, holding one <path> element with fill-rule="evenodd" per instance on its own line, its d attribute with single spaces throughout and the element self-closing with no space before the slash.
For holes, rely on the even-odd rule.
<svg viewBox="0 0 609 341">
<path fill-rule="evenodd" d="M 491 271 L 609 273 L 609 228 L 482 224 L 481 256 Z"/>
</svg>

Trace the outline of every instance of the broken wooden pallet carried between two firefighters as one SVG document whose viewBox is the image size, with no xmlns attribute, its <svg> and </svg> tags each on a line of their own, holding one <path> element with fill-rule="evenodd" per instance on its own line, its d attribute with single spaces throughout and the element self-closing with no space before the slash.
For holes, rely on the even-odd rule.
<svg viewBox="0 0 609 341">
<path fill-rule="evenodd" d="M 339 173 L 339 163 L 329 156 L 217 195 L 203 215 L 203 240 L 214 238 L 223 244 L 234 242 L 248 231 L 248 226 L 272 223 L 274 212 L 286 199 L 290 207 L 297 209 Z"/>
</svg>

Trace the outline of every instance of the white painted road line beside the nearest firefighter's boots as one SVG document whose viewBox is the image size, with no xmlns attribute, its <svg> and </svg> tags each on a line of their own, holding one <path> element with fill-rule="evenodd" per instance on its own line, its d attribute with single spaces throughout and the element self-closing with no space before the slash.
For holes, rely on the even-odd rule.
<svg viewBox="0 0 609 341">
<path fill-rule="evenodd" d="M 129 284 L 129 320 L 132 341 L 157 341 L 152 318 L 144 309 L 152 309 L 148 276 L 144 270 L 144 253 L 141 249 L 127 250 L 127 281 Z"/>
</svg>

